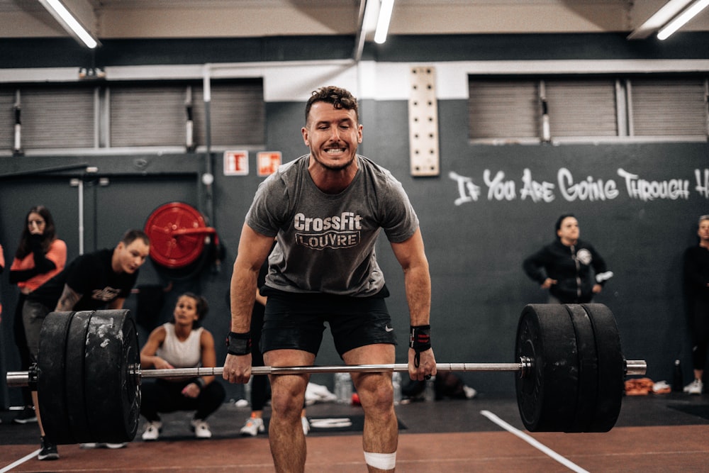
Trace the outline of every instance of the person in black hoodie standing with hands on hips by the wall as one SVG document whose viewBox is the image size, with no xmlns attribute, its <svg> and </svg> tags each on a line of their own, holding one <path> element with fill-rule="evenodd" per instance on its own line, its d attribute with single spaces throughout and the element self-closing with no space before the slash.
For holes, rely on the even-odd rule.
<svg viewBox="0 0 709 473">
<path fill-rule="evenodd" d="M 579 240 L 579 221 L 572 213 L 557 218 L 557 239 L 527 257 L 527 276 L 549 289 L 549 303 L 583 304 L 603 289 L 613 277 L 596 248 Z"/>
</svg>

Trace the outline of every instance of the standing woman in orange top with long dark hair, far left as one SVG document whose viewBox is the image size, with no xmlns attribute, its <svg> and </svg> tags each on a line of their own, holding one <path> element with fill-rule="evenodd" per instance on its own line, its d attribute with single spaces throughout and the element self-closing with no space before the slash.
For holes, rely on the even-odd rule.
<svg viewBox="0 0 709 473">
<path fill-rule="evenodd" d="M 20 288 L 20 297 L 15 310 L 15 343 L 20 352 L 22 369 L 30 366 L 25 325 L 22 321 L 22 306 L 27 294 L 37 289 L 64 269 L 67 262 L 67 244 L 57 238 L 54 219 L 45 206 L 35 206 L 27 213 L 20 245 L 10 267 L 10 282 Z M 25 408 L 13 419 L 14 423 L 36 422 L 30 390 L 23 388 Z"/>
</svg>

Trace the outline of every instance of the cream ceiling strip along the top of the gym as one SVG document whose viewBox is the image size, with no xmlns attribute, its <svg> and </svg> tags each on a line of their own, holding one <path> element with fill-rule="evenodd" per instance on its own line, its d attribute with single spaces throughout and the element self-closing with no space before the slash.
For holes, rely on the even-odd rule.
<svg viewBox="0 0 709 473">
<path fill-rule="evenodd" d="M 360 0 L 62 0 L 101 39 L 357 35 Z M 366 1 L 366 0 L 362 0 Z M 370 3 L 378 0 L 369 0 Z M 691 0 L 396 0 L 389 34 L 627 33 Z M 682 31 L 709 30 L 709 9 Z M 367 40 L 372 33 L 367 33 Z M 65 37 L 38 0 L 0 0 L 0 38 Z"/>
</svg>

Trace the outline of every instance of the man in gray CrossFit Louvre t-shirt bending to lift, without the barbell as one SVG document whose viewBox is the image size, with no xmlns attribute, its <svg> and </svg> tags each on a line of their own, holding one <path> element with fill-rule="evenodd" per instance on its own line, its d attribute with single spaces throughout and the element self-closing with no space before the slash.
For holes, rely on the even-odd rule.
<svg viewBox="0 0 709 473">
<path fill-rule="evenodd" d="M 314 91 L 301 133 L 310 153 L 262 183 L 242 228 L 224 379 L 245 383 L 250 378 L 257 274 L 276 237 L 261 291 L 268 297 L 261 340 L 267 365 L 312 365 L 326 321 L 347 365 L 393 362 L 396 338 L 384 303 L 388 291 L 374 255 L 381 229 L 404 272 L 411 318 L 409 375 L 431 377 L 436 374 L 431 286 L 418 218 L 391 173 L 357 155 L 362 142 L 357 100 L 338 87 Z M 391 373 L 352 373 L 352 380 L 364 408 L 367 467 L 391 470 L 398 441 Z M 279 472 L 305 468 L 300 414 L 307 384 L 307 374 L 271 376 L 269 440 Z"/>
</svg>

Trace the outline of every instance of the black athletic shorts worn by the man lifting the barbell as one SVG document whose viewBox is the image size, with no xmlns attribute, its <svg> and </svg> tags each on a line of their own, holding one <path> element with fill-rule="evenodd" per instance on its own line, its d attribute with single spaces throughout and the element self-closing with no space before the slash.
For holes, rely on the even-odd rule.
<svg viewBox="0 0 709 473">
<path fill-rule="evenodd" d="M 261 335 L 263 352 L 294 349 L 317 355 L 325 322 L 330 325 L 340 357 L 353 348 L 373 343 L 396 345 L 383 296 L 290 294 L 264 289 L 261 294 L 268 300 Z"/>
</svg>

